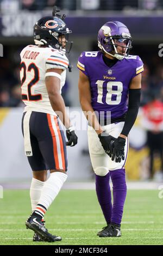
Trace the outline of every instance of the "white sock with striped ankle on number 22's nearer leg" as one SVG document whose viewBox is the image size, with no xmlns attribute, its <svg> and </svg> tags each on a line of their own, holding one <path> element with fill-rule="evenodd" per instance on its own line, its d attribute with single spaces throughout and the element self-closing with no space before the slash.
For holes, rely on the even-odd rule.
<svg viewBox="0 0 163 256">
<path fill-rule="evenodd" d="M 43 211 L 45 211 L 45 209 L 47 210 L 49 206 L 52 204 L 53 200 L 55 199 L 55 197 L 57 197 L 66 179 L 67 179 L 67 174 L 65 173 L 61 173 L 61 172 L 51 173 L 48 180 L 44 182 L 40 200 L 38 202 L 37 208 L 35 209 L 37 214 L 40 214 L 41 216 L 45 214 L 45 212 Z"/>
</svg>

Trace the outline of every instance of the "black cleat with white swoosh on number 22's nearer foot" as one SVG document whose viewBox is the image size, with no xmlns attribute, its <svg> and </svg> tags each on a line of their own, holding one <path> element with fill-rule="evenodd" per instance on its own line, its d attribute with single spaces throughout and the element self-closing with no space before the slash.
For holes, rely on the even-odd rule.
<svg viewBox="0 0 163 256">
<path fill-rule="evenodd" d="M 28 218 L 28 220 L 26 221 L 26 227 L 27 229 L 32 229 L 37 237 L 35 236 L 35 239 L 38 239 L 38 236 L 39 240 L 37 241 L 46 241 L 46 242 L 55 242 L 55 241 L 61 241 L 61 237 L 60 236 L 53 236 L 52 234 L 48 233 L 48 230 L 44 227 L 42 221 L 35 217 L 35 216 L 30 216 Z M 36 240 L 35 240 L 36 241 Z"/>
</svg>

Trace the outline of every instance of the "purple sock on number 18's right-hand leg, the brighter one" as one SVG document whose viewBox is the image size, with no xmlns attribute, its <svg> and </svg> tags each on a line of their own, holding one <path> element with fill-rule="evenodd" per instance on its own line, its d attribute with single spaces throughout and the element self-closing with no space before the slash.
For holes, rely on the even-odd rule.
<svg viewBox="0 0 163 256">
<path fill-rule="evenodd" d="M 112 180 L 113 208 L 111 223 L 121 224 L 123 215 L 123 206 L 127 194 L 125 169 L 117 169 L 110 171 Z"/>
</svg>

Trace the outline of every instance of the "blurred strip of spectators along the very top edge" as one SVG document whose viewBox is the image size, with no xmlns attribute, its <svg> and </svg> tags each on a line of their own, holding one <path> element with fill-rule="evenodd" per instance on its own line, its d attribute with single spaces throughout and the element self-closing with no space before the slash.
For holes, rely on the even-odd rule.
<svg viewBox="0 0 163 256">
<path fill-rule="evenodd" d="M 160 10 L 162 0 L 0 0 L 1 11 L 48 10 L 57 5 L 66 10 Z"/>
</svg>

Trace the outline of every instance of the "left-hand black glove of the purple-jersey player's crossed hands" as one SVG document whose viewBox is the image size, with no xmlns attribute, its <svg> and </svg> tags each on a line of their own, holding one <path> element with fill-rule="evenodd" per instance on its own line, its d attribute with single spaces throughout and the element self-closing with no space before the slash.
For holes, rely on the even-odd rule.
<svg viewBox="0 0 163 256">
<path fill-rule="evenodd" d="M 112 144 L 116 138 L 112 137 L 107 132 L 100 133 L 98 138 L 102 144 L 103 149 L 105 150 L 105 153 L 111 157 L 113 152 Z"/>
</svg>

